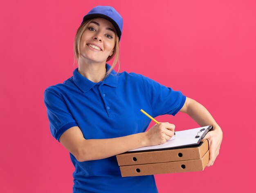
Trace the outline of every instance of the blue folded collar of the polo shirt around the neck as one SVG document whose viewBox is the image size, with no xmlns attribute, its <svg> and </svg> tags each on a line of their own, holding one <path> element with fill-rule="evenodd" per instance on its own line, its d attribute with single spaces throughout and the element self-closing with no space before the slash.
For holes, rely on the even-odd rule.
<svg viewBox="0 0 256 193">
<path fill-rule="evenodd" d="M 108 71 L 111 68 L 111 66 L 109 64 L 106 63 L 106 70 Z M 118 76 L 115 75 L 116 72 L 115 70 L 112 70 L 110 72 L 110 74 L 108 75 L 107 78 L 103 79 L 103 81 L 99 81 L 99 83 L 94 83 L 92 81 L 90 81 L 89 79 L 85 78 L 84 76 L 82 76 L 79 72 L 78 72 L 78 68 L 76 68 L 73 71 L 73 80 L 74 83 L 76 84 L 76 86 L 83 92 L 87 92 L 88 90 L 90 90 L 92 87 L 94 87 L 94 85 L 97 84 L 106 84 L 109 85 L 111 87 L 117 87 L 118 84 Z"/>
</svg>

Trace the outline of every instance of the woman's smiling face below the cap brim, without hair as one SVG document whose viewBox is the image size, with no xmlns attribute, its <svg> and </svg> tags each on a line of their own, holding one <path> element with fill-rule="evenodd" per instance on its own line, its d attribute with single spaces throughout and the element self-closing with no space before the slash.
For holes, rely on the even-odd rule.
<svg viewBox="0 0 256 193">
<path fill-rule="evenodd" d="M 106 63 L 115 47 L 115 27 L 104 18 L 94 18 L 80 40 L 81 59 Z"/>
</svg>

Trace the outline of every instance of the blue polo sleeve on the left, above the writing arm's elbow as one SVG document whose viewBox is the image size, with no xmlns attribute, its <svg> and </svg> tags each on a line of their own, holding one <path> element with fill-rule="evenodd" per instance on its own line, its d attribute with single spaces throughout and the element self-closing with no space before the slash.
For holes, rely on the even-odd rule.
<svg viewBox="0 0 256 193">
<path fill-rule="evenodd" d="M 72 114 L 67 108 L 63 97 L 52 89 L 44 92 L 44 103 L 47 109 L 49 127 L 52 136 L 59 141 L 59 138 L 67 129 L 78 126 Z"/>
</svg>

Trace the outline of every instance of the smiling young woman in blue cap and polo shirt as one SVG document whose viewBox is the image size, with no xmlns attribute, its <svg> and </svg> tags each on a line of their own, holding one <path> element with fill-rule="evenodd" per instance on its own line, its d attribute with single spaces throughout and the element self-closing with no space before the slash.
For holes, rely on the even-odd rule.
<svg viewBox="0 0 256 193">
<path fill-rule="evenodd" d="M 74 41 L 78 68 L 61 84 L 44 92 L 52 136 L 69 152 L 75 171 L 74 193 L 156 193 L 153 175 L 121 177 L 115 155 L 143 146 L 164 144 L 175 126 L 159 123 L 147 132 L 150 119 L 185 112 L 208 132 L 211 166 L 222 141 L 222 130 L 200 103 L 146 76 L 116 73 L 123 20 L 109 6 L 94 7 L 84 16 Z M 114 57 L 112 67 L 106 62 Z M 118 70 L 119 72 L 119 70 Z"/>
</svg>

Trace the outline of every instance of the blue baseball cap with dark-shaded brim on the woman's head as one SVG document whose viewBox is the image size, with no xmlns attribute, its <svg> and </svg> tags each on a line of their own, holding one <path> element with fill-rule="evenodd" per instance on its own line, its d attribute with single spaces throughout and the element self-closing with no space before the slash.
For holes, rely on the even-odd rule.
<svg viewBox="0 0 256 193">
<path fill-rule="evenodd" d="M 97 17 L 105 18 L 114 25 L 114 27 L 117 30 L 117 35 L 119 36 L 119 41 L 120 41 L 121 35 L 122 35 L 122 28 L 123 28 L 123 18 L 121 17 L 121 15 L 111 6 L 99 5 L 97 7 L 92 8 L 92 10 L 89 11 L 89 13 L 83 16 L 82 23 L 85 20 L 97 18 Z"/>
</svg>

